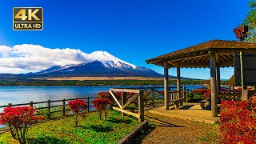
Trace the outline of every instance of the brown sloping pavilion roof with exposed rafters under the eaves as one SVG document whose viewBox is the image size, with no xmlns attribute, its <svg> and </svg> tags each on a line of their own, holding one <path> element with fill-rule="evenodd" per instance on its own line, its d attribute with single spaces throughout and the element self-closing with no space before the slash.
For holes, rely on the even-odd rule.
<svg viewBox="0 0 256 144">
<path fill-rule="evenodd" d="M 211 40 L 187 47 L 186 49 L 150 58 L 146 62 L 163 66 L 163 62 L 167 61 L 170 67 L 209 67 L 210 53 L 214 53 L 220 67 L 234 66 L 234 54 L 239 51 L 256 53 L 256 43 Z"/>
</svg>

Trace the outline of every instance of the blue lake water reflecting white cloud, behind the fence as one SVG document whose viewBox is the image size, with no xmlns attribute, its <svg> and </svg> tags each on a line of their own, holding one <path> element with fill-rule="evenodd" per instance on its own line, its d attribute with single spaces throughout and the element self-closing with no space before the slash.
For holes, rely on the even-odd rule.
<svg viewBox="0 0 256 144">
<path fill-rule="evenodd" d="M 8 103 L 19 104 L 27 102 L 42 102 L 47 100 L 61 100 L 62 98 L 96 97 L 101 91 L 110 88 L 143 88 L 150 86 L 0 86 L 0 106 Z M 162 86 L 157 90 L 163 90 Z M 171 86 L 175 87 L 175 86 Z M 203 86 L 186 86 L 189 89 Z M 175 89 L 175 88 L 171 88 Z M 3 109 L 0 109 L 2 112 Z M 2 126 L 0 126 L 1 128 Z"/>
</svg>

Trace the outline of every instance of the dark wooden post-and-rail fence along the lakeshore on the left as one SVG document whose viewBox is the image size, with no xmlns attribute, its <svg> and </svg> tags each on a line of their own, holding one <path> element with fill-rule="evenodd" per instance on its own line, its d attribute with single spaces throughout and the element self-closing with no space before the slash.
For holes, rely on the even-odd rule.
<svg viewBox="0 0 256 144">
<path fill-rule="evenodd" d="M 91 99 L 94 98 L 98 98 L 98 97 L 86 97 L 86 98 L 63 98 L 61 100 L 48 100 L 48 101 L 43 101 L 43 102 L 29 102 L 29 103 L 19 103 L 19 104 L 12 104 L 12 103 L 8 103 L 8 105 L 5 106 L 0 106 L 0 108 L 5 108 L 8 106 L 34 106 L 35 110 L 46 110 L 46 118 L 50 119 L 51 118 L 51 114 L 57 113 L 57 112 L 62 112 L 62 116 L 66 116 L 66 111 L 70 110 L 69 108 L 67 108 L 66 106 L 68 106 L 68 102 L 72 101 L 72 100 L 76 100 L 76 99 L 83 99 L 86 101 L 86 104 L 88 105 L 88 109 L 87 112 L 90 112 L 90 107 L 92 107 L 92 105 L 90 105 L 92 103 L 92 101 L 90 101 Z M 57 103 L 56 102 L 62 102 L 62 104 Z M 40 106 L 40 104 L 42 104 L 42 107 Z M 56 105 L 54 105 L 56 104 Z M 39 107 L 37 106 L 39 105 Z M 46 105 L 46 106 L 44 106 Z M 58 110 L 52 110 L 51 108 L 59 108 Z M 36 115 L 42 115 L 42 113 L 38 113 Z"/>
</svg>

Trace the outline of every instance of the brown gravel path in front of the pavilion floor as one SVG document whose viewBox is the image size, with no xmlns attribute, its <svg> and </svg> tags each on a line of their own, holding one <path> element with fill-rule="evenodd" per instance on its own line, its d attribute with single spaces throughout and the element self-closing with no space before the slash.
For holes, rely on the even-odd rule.
<svg viewBox="0 0 256 144">
<path fill-rule="evenodd" d="M 142 144 L 218 143 L 219 125 L 165 117 L 145 112 L 154 130 L 143 138 Z"/>
</svg>

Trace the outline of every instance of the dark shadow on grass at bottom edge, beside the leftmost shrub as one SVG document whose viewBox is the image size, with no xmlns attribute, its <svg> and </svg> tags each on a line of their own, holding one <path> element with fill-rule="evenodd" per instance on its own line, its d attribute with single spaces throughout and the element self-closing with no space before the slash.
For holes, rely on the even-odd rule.
<svg viewBox="0 0 256 144">
<path fill-rule="evenodd" d="M 58 139 L 53 136 L 39 136 L 38 138 L 28 138 L 30 144 L 65 144 L 66 140 Z"/>
</svg>

